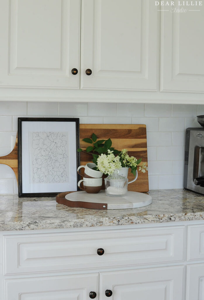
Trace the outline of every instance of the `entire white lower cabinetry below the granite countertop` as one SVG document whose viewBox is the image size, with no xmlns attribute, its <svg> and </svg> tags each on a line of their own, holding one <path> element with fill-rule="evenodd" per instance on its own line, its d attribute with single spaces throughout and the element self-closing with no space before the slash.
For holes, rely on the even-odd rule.
<svg viewBox="0 0 204 300">
<path fill-rule="evenodd" d="M 203 225 L 1 231 L 0 300 L 204 300 Z"/>
</svg>

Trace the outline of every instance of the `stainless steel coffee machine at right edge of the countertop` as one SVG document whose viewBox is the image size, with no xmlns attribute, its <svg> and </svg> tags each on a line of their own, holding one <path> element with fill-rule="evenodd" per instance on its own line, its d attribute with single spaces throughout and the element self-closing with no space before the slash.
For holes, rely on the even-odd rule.
<svg viewBox="0 0 204 300">
<path fill-rule="evenodd" d="M 187 128 L 185 136 L 184 188 L 204 194 L 204 115 L 201 128 Z"/>
</svg>

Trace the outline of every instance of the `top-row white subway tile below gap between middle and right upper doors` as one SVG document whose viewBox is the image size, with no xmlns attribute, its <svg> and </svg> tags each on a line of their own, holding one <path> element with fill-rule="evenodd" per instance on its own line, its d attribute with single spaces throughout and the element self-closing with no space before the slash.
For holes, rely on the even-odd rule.
<svg viewBox="0 0 204 300">
<path fill-rule="evenodd" d="M 144 116 L 146 117 L 170 117 L 171 104 L 145 104 Z"/>
</svg>

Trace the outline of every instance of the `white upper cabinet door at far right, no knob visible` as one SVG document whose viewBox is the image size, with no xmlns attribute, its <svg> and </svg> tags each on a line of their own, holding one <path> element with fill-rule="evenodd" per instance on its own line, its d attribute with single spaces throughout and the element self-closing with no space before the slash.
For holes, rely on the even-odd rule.
<svg viewBox="0 0 204 300">
<path fill-rule="evenodd" d="M 160 90 L 203 93 L 204 6 L 187 6 L 185 13 L 162 9 Z"/>
</svg>

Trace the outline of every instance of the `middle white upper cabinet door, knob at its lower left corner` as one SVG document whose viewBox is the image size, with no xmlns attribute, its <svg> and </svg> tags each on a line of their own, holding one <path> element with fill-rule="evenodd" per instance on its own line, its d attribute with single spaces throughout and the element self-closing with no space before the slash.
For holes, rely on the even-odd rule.
<svg viewBox="0 0 204 300">
<path fill-rule="evenodd" d="M 82 0 L 81 88 L 156 90 L 157 14 L 151 0 Z"/>
</svg>

